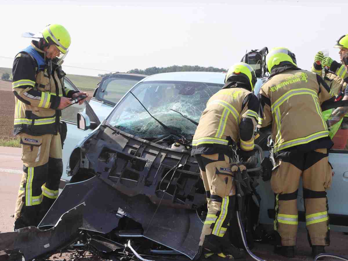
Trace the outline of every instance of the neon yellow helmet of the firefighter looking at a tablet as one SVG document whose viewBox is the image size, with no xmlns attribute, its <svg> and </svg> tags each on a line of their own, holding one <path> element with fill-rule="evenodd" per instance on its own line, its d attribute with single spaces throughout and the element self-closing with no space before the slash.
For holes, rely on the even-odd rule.
<svg viewBox="0 0 348 261">
<path fill-rule="evenodd" d="M 64 26 L 60 24 L 49 24 L 42 30 L 42 36 L 48 44 L 55 44 L 63 54 L 68 52 L 71 39 L 69 32 Z"/>
</svg>

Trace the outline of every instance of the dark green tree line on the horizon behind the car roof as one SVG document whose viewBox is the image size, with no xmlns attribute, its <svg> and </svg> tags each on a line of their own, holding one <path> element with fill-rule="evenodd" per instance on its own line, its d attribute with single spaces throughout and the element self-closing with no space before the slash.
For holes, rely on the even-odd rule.
<svg viewBox="0 0 348 261">
<path fill-rule="evenodd" d="M 141 69 L 132 69 L 129 70 L 127 73 L 139 73 L 139 74 L 145 74 L 145 75 L 152 75 L 156 73 L 164 73 L 164 72 L 227 72 L 227 69 L 224 68 L 215 68 L 213 66 L 209 67 L 203 67 L 203 66 L 198 66 L 198 65 L 172 65 L 168 67 L 149 67 L 144 70 Z M 105 73 L 105 74 L 98 74 L 99 77 L 104 77 L 107 76 L 110 73 Z"/>
</svg>

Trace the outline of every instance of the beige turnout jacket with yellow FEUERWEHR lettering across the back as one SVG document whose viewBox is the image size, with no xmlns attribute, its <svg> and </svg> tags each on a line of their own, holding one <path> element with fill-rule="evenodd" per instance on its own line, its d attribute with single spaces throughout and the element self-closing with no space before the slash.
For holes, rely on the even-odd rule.
<svg viewBox="0 0 348 261">
<path fill-rule="evenodd" d="M 273 70 L 272 70 L 273 72 Z M 271 126 L 274 152 L 331 148 L 321 104 L 333 101 L 317 74 L 296 67 L 277 68 L 259 93 L 259 128 Z"/>
</svg>

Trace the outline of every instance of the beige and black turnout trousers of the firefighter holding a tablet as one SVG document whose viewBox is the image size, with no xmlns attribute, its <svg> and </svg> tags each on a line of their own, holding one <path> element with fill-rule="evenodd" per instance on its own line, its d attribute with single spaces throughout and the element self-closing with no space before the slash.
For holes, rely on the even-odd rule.
<svg viewBox="0 0 348 261">
<path fill-rule="evenodd" d="M 25 223 L 36 226 L 58 197 L 62 176 L 62 144 L 60 134 L 32 136 L 20 133 L 23 175 L 15 206 L 14 218 L 25 217 Z M 23 207 L 25 209 L 23 209 Z"/>
</svg>

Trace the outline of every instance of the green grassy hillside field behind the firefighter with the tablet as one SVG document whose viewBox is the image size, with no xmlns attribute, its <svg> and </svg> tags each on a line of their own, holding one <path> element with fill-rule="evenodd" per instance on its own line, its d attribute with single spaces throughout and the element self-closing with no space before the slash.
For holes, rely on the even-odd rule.
<svg viewBox="0 0 348 261">
<path fill-rule="evenodd" d="M 10 79 L 12 79 L 12 69 L 11 68 L 3 68 L 0 67 L 0 79 L 3 73 L 9 73 Z M 80 90 L 94 90 L 97 86 L 98 82 L 101 81 L 101 77 L 95 76 L 86 76 L 86 75 L 78 75 L 78 74 L 66 74 L 66 77 L 72 81 L 74 85 Z"/>
</svg>

